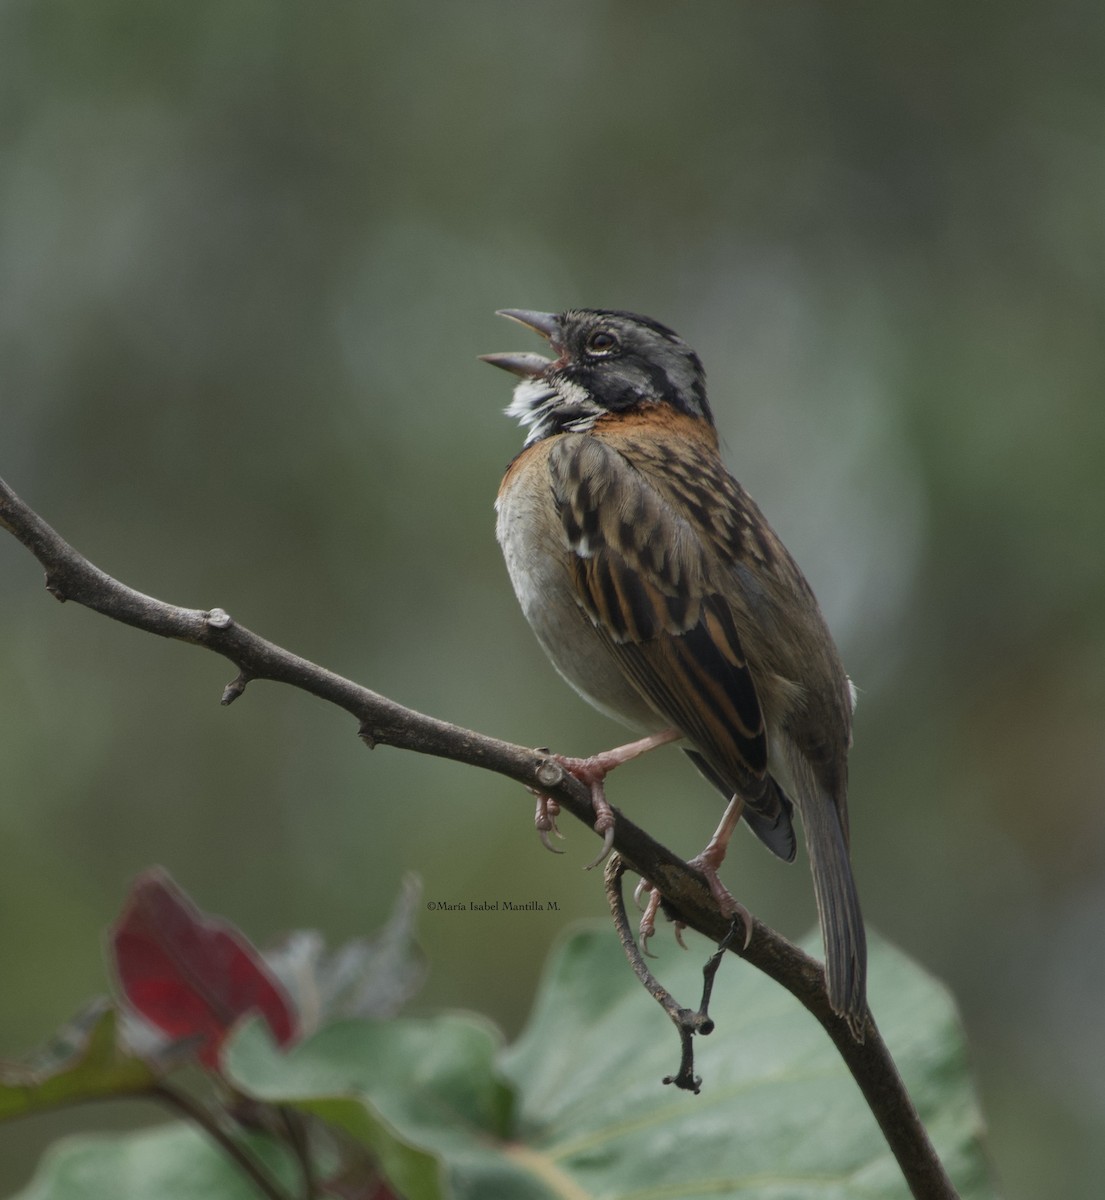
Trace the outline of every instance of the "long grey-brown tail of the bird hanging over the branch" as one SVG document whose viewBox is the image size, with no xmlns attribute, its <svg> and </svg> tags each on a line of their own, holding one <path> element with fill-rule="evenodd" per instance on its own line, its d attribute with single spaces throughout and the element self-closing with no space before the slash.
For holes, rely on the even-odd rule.
<svg viewBox="0 0 1105 1200">
<path fill-rule="evenodd" d="M 867 1013 L 867 941 L 848 847 L 831 797 L 818 792 L 812 803 L 799 804 L 799 809 L 825 946 L 829 1003 L 861 1042 Z"/>
</svg>

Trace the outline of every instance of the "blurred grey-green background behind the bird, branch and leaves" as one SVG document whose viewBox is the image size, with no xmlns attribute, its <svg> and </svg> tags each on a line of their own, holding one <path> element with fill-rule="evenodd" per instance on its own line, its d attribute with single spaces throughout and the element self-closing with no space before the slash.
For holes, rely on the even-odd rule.
<svg viewBox="0 0 1105 1200">
<path fill-rule="evenodd" d="M 491 506 L 521 433 L 476 355 L 536 349 L 502 306 L 673 325 L 860 688 L 867 919 L 959 998 L 1004 1194 L 1099 1196 L 1103 14 L 7 0 L 0 474 L 142 590 L 590 752 L 621 731 L 516 608 Z M 421 923 L 419 1004 L 518 1030 L 551 940 L 605 911 L 582 827 L 547 854 L 518 788 L 370 755 L 287 689 L 220 708 L 222 660 L 41 578 L 0 539 L 0 1055 L 103 990 L 151 863 L 260 942 L 371 930 L 407 870 L 554 899 Z M 674 750 L 611 798 L 687 854 L 720 811 Z M 751 838 L 727 878 L 812 923 Z M 0 1193 L 134 1116 L 0 1128 Z"/>
</svg>

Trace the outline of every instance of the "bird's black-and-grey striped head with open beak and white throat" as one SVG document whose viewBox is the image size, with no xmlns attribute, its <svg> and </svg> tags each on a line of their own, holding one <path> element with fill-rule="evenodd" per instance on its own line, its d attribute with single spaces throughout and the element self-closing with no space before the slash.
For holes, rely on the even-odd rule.
<svg viewBox="0 0 1105 1200">
<path fill-rule="evenodd" d="M 503 308 L 555 352 L 485 354 L 485 362 L 521 376 L 506 409 L 529 426 L 526 444 L 552 433 L 585 432 L 606 413 L 671 404 L 713 424 L 698 355 L 666 325 L 632 312 Z"/>
</svg>

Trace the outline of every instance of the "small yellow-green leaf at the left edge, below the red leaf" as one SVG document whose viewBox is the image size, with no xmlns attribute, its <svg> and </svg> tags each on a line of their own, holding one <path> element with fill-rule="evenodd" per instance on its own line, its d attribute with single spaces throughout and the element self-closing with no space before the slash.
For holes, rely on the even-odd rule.
<svg viewBox="0 0 1105 1200">
<path fill-rule="evenodd" d="M 25 1063 L 0 1063 L 0 1120 L 149 1091 L 154 1070 L 118 1045 L 116 1015 L 96 1001 Z"/>
</svg>

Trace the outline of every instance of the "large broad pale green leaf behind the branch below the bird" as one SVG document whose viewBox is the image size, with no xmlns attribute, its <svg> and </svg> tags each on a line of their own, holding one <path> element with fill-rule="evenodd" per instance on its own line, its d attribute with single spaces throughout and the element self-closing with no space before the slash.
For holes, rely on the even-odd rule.
<svg viewBox="0 0 1105 1200">
<path fill-rule="evenodd" d="M 665 946 L 657 973 L 697 1004 L 708 947 Z M 811 950 L 819 943 L 811 940 Z M 696 1039 L 699 1096 L 660 1086 L 678 1044 L 612 932 L 581 932 L 553 961 L 500 1066 L 518 1087 L 516 1136 L 582 1195 L 906 1200 L 875 1117 L 821 1026 L 751 967 L 722 964 Z M 613 971 L 611 965 L 619 968 Z M 963 1200 L 993 1196 L 962 1034 L 944 989 L 871 937 L 872 1010 Z"/>
</svg>

